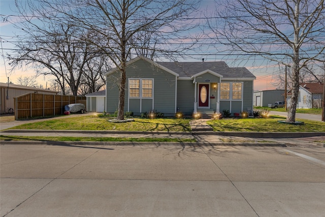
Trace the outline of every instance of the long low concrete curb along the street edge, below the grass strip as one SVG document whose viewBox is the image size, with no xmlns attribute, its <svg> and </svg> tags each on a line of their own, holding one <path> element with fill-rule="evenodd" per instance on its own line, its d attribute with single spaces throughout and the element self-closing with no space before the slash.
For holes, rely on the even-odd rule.
<svg viewBox="0 0 325 217">
<path fill-rule="evenodd" d="M 106 146 L 106 145 L 154 145 L 154 146 L 251 146 L 251 147 L 286 147 L 284 143 L 279 142 L 64 142 L 64 141 L 1 141 L 1 145 L 58 145 L 58 146 Z"/>
</svg>

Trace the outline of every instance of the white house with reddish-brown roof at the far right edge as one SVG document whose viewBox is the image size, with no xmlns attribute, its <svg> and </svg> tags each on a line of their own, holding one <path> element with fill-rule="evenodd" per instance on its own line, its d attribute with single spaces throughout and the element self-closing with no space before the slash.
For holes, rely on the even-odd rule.
<svg viewBox="0 0 325 217">
<path fill-rule="evenodd" d="M 301 83 L 299 85 L 299 95 L 297 108 L 321 108 L 322 83 Z M 290 105 L 291 90 L 287 94 L 287 104 Z"/>
</svg>

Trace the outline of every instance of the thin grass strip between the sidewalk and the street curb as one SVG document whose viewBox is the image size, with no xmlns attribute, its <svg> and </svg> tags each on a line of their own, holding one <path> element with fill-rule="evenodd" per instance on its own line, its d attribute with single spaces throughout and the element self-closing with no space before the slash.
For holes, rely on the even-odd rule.
<svg viewBox="0 0 325 217">
<path fill-rule="evenodd" d="M 195 139 L 178 138 L 124 138 L 124 137 L 45 137 L 3 136 L 0 141 L 68 141 L 68 142 L 196 142 Z"/>
</svg>

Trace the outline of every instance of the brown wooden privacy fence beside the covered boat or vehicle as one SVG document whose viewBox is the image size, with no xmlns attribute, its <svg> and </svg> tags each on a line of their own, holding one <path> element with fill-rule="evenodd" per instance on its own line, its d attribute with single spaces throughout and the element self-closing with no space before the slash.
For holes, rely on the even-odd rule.
<svg viewBox="0 0 325 217">
<path fill-rule="evenodd" d="M 86 97 L 47 95 L 47 94 L 25 94 L 14 98 L 15 120 L 31 117 L 45 117 L 61 115 L 64 106 L 74 103 L 86 103 Z"/>
</svg>

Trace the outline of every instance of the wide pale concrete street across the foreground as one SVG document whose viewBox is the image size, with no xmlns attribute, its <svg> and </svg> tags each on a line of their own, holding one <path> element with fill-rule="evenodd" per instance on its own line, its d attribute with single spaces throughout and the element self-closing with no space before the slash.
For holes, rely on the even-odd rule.
<svg viewBox="0 0 325 217">
<path fill-rule="evenodd" d="M 1 216 L 325 216 L 325 149 L 1 145 Z"/>
</svg>

